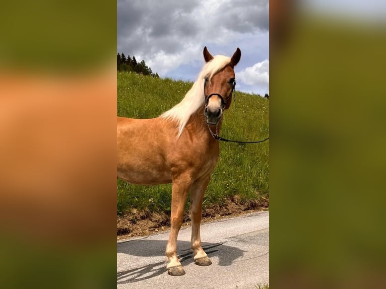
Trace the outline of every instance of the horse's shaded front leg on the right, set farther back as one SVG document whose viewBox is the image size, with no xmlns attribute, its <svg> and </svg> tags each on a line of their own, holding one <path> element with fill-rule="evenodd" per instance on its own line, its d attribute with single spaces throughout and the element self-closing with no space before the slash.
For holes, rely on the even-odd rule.
<svg viewBox="0 0 386 289">
<path fill-rule="evenodd" d="M 191 186 L 191 248 L 197 265 L 209 266 L 212 264 L 201 245 L 200 224 L 204 193 L 208 187 L 210 176 L 197 180 Z"/>
</svg>

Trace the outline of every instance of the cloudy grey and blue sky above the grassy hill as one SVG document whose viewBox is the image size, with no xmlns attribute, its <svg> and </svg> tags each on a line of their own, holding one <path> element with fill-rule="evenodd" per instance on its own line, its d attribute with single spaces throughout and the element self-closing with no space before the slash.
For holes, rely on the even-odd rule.
<svg viewBox="0 0 386 289">
<path fill-rule="evenodd" d="M 195 81 L 203 49 L 232 56 L 239 91 L 269 93 L 268 0 L 117 0 L 117 52 L 161 77 Z"/>
</svg>

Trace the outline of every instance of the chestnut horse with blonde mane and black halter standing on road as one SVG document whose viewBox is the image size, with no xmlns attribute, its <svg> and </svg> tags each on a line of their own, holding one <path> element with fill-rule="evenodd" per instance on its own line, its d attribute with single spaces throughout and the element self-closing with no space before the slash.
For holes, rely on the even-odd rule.
<svg viewBox="0 0 386 289">
<path fill-rule="evenodd" d="M 232 57 L 212 56 L 204 47 L 205 65 L 181 102 L 151 119 L 117 117 L 117 177 L 132 184 L 172 183 L 170 223 L 166 245 L 169 275 L 185 274 L 177 257 L 177 236 L 190 191 L 191 248 L 200 266 L 212 264 L 201 245 L 200 224 L 204 193 L 219 159 L 219 133 L 224 110 L 235 87 Z"/>
</svg>

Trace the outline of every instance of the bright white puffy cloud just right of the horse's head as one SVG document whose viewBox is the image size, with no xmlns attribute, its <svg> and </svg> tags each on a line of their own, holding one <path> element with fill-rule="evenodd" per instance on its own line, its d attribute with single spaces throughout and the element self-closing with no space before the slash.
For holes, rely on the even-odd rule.
<svg viewBox="0 0 386 289">
<path fill-rule="evenodd" d="M 255 63 L 253 66 L 236 73 L 236 79 L 241 83 L 262 92 L 269 92 L 270 60 Z"/>
</svg>

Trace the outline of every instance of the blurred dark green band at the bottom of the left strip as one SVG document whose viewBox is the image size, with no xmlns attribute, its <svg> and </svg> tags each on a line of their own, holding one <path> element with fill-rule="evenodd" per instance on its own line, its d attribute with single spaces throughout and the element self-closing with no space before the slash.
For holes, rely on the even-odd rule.
<svg viewBox="0 0 386 289">
<path fill-rule="evenodd" d="M 106 243 L 42 246 L 2 239 L 3 288 L 109 288 L 115 283 L 116 247 Z"/>
</svg>

